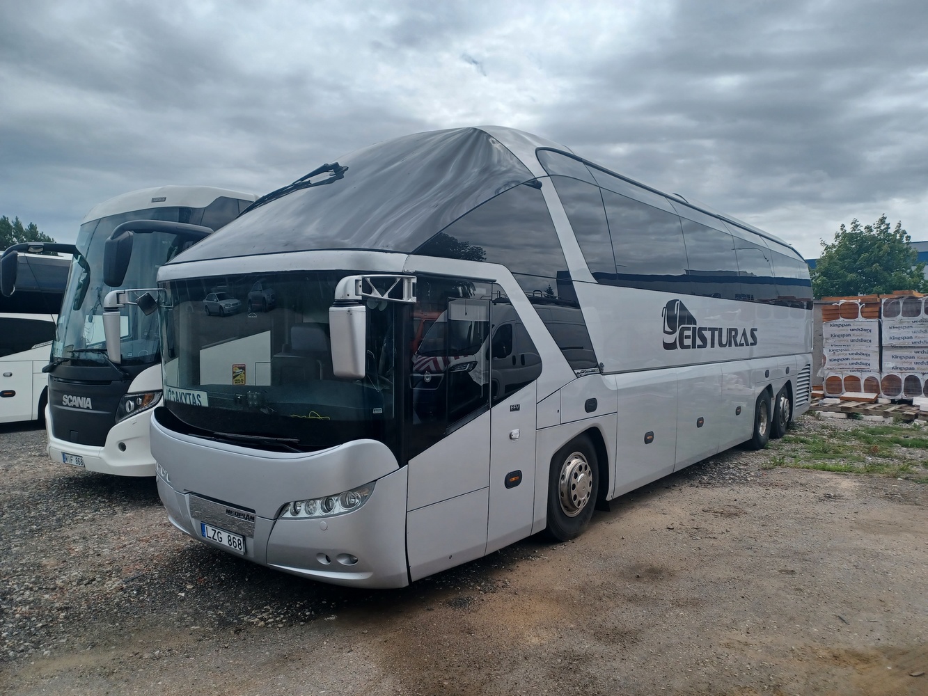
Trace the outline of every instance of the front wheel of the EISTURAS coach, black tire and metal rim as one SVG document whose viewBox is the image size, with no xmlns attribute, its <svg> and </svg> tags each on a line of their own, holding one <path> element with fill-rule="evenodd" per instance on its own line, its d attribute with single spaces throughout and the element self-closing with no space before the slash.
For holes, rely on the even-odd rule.
<svg viewBox="0 0 928 696">
<path fill-rule="evenodd" d="M 548 536 L 569 541 L 583 532 L 599 494 L 596 450 L 581 435 L 551 459 L 548 479 Z"/>
</svg>

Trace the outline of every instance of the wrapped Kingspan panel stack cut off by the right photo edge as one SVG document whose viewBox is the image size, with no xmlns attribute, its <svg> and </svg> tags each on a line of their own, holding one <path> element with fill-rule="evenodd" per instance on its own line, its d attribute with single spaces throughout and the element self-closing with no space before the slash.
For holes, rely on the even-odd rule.
<svg viewBox="0 0 928 696">
<path fill-rule="evenodd" d="M 883 296 L 883 374 L 887 399 L 928 395 L 928 315 L 922 297 Z"/>
</svg>

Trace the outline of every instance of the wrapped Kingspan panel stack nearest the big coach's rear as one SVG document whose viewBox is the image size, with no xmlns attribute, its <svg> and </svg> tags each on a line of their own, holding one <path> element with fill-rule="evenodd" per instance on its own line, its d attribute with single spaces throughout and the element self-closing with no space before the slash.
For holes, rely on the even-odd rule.
<svg viewBox="0 0 928 696">
<path fill-rule="evenodd" d="M 826 299 L 835 303 L 822 307 L 825 395 L 879 394 L 879 298 Z"/>
</svg>

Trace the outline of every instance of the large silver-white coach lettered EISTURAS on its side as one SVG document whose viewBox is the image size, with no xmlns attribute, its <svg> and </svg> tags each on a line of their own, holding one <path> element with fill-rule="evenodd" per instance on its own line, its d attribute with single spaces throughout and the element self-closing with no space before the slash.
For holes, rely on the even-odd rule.
<svg viewBox="0 0 928 696">
<path fill-rule="evenodd" d="M 138 304 L 161 305 L 171 522 L 323 582 L 572 538 L 809 402 L 799 253 L 506 128 L 358 150 L 158 281 Z"/>
</svg>

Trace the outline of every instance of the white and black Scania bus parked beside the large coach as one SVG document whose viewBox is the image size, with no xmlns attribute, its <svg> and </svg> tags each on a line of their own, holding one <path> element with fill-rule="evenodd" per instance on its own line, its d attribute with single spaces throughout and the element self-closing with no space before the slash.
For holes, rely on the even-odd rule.
<svg viewBox="0 0 928 696">
<path fill-rule="evenodd" d="M 116 360 L 107 354 L 103 299 L 113 287 L 151 287 L 158 267 L 226 225 L 257 197 L 215 187 L 166 186 L 122 194 L 87 213 L 46 368 L 48 454 L 88 471 L 153 476 L 148 413 L 161 403 L 158 321 L 122 310 Z M 116 236 L 132 260 L 110 286 L 103 251 Z"/>
</svg>

